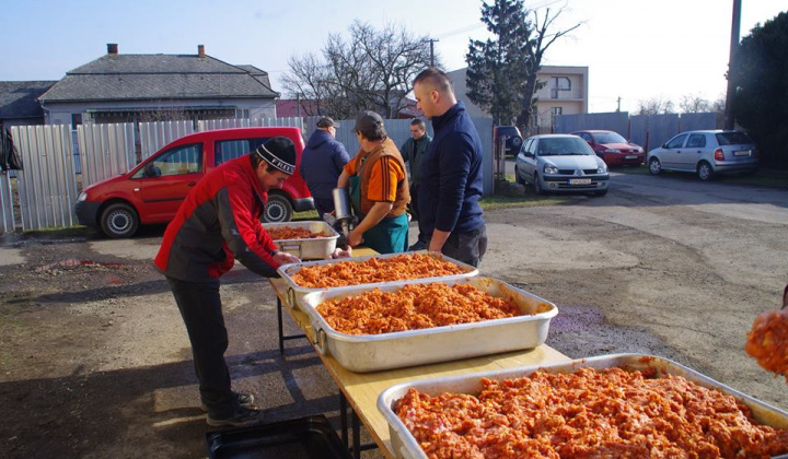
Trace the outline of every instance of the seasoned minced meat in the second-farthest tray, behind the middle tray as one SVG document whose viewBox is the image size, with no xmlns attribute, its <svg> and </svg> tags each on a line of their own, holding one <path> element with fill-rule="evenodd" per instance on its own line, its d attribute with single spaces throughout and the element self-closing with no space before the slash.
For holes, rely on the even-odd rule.
<svg viewBox="0 0 788 459">
<path fill-rule="evenodd" d="M 292 275 L 296 284 L 308 289 L 374 284 L 409 279 L 438 278 L 465 272 L 461 267 L 421 254 L 373 257 L 364 261 L 341 261 L 301 268 Z"/>
</svg>

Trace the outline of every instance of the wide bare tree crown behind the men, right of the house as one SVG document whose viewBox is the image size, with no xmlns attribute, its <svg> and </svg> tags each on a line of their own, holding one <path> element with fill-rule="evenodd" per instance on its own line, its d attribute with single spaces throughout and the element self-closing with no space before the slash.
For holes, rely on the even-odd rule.
<svg viewBox="0 0 788 459">
<path fill-rule="evenodd" d="M 291 57 L 282 78 L 286 91 L 314 99 L 320 113 L 339 118 L 363 109 L 396 117 L 407 106 L 410 81 L 430 64 L 426 37 L 395 24 L 378 31 L 359 21 L 348 32 L 348 40 L 329 35 L 320 57 Z"/>
</svg>

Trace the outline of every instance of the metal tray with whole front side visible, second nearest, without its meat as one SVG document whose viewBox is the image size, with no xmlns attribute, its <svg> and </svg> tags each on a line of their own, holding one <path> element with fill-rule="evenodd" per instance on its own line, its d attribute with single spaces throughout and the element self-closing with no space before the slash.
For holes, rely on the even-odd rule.
<svg viewBox="0 0 788 459">
<path fill-rule="evenodd" d="M 535 348 L 544 343 L 549 321 L 558 314 L 553 303 L 490 278 L 408 281 L 410 284 L 429 282 L 471 284 L 491 296 L 511 299 L 524 315 L 392 333 L 347 334 L 333 329 L 315 308 L 327 299 L 341 299 L 375 287 L 397 291 L 405 282 L 314 292 L 303 301 L 315 348 L 324 355 L 334 356 L 345 368 L 358 373 L 448 362 Z"/>
</svg>

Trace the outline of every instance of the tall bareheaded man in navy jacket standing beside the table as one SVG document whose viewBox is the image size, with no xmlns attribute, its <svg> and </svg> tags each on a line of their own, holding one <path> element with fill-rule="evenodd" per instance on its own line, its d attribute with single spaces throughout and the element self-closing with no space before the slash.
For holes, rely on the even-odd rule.
<svg viewBox="0 0 788 459">
<path fill-rule="evenodd" d="M 449 76 L 428 68 L 416 76 L 417 107 L 432 120 L 434 138 L 420 167 L 419 221 L 430 251 L 478 267 L 487 251 L 482 140 Z"/>
</svg>

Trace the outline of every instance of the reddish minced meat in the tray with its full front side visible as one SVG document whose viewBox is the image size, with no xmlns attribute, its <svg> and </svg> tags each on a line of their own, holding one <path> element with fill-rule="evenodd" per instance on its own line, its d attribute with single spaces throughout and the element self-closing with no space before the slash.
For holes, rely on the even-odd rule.
<svg viewBox="0 0 788 459">
<path fill-rule="evenodd" d="M 408 284 L 395 292 L 374 289 L 332 299 L 317 311 L 336 331 L 380 334 L 522 316 L 510 299 L 494 297 L 468 284 Z"/>
</svg>

